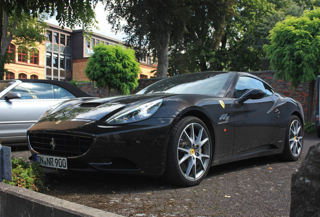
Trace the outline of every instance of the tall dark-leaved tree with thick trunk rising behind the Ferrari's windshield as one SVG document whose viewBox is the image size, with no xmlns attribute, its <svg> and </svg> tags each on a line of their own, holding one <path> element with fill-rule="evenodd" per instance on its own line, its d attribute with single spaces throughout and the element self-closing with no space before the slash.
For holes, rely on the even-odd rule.
<svg viewBox="0 0 320 217">
<path fill-rule="evenodd" d="M 166 77 L 170 40 L 180 38 L 189 13 L 189 1 L 104 0 L 108 21 L 128 35 L 126 42 L 137 51 L 151 50 L 157 58 L 157 77 Z"/>
</svg>

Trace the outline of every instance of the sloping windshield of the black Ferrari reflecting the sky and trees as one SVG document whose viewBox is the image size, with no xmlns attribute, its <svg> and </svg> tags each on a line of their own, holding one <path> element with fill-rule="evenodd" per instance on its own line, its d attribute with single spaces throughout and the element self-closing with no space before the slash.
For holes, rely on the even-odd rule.
<svg viewBox="0 0 320 217">
<path fill-rule="evenodd" d="M 136 94 L 189 93 L 224 96 L 234 73 L 197 72 L 165 78 Z"/>
</svg>

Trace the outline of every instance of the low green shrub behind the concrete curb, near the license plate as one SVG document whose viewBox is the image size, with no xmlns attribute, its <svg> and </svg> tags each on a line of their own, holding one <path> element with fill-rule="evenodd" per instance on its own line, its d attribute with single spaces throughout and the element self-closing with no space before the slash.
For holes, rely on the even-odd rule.
<svg viewBox="0 0 320 217">
<path fill-rule="evenodd" d="M 33 191 L 43 190 L 45 173 L 36 162 L 28 162 L 22 159 L 11 159 L 12 181 L 4 180 L 4 183 L 26 188 Z"/>
</svg>

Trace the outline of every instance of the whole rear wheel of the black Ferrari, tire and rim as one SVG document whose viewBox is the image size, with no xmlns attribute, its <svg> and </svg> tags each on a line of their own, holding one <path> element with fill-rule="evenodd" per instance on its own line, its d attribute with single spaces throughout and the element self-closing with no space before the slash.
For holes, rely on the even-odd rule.
<svg viewBox="0 0 320 217">
<path fill-rule="evenodd" d="M 282 157 L 288 161 L 296 161 L 302 153 L 303 126 L 297 116 L 291 116 L 287 126 Z"/>
</svg>

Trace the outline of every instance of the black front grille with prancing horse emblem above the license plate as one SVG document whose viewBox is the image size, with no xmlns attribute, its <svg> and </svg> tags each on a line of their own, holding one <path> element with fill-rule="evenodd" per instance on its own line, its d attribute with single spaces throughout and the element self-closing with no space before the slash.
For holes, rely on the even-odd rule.
<svg viewBox="0 0 320 217">
<path fill-rule="evenodd" d="M 93 143 L 93 138 L 67 134 L 29 133 L 29 143 L 40 154 L 76 157 L 85 154 Z"/>
</svg>

